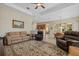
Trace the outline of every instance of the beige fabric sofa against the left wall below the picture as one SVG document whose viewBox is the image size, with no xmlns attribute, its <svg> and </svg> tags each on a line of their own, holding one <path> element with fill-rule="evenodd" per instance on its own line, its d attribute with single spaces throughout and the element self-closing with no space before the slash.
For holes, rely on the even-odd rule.
<svg viewBox="0 0 79 59">
<path fill-rule="evenodd" d="M 29 40 L 30 36 L 27 35 L 27 32 L 8 32 L 4 38 L 4 44 L 10 45 L 13 43 L 18 43 L 22 41 Z"/>
</svg>

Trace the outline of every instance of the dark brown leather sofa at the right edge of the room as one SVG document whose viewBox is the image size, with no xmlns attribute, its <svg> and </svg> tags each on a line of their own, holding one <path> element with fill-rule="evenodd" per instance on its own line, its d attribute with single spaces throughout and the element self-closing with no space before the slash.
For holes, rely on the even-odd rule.
<svg viewBox="0 0 79 59">
<path fill-rule="evenodd" d="M 67 52 L 69 50 L 69 46 L 77 45 L 76 43 L 79 43 L 79 32 L 77 31 L 66 31 L 64 32 L 63 35 L 60 35 L 60 37 L 59 36 L 58 38 L 56 37 L 57 46 L 59 46 L 60 48 L 62 48 Z"/>
</svg>

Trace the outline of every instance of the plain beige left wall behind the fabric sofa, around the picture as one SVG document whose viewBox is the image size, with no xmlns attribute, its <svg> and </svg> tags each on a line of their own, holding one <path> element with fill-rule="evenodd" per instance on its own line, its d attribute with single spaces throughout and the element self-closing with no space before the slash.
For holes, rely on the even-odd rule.
<svg viewBox="0 0 79 59">
<path fill-rule="evenodd" d="M 24 28 L 12 28 L 12 20 L 24 22 Z M 0 4 L 0 36 L 4 36 L 10 31 L 27 31 L 32 30 L 32 17 L 12 9 L 8 6 Z"/>
</svg>

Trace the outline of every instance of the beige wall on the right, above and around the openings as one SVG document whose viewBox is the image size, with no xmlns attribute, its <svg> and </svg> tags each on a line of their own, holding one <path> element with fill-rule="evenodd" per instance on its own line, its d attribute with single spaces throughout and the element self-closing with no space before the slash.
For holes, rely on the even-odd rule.
<svg viewBox="0 0 79 59">
<path fill-rule="evenodd" d="M 60 20 L 54 20 L 54 21 L 49 21 L 49 22 L 41 22 L 40 24 L 48 24 L 49 28 L 53 28 L 53 32 L 56 32 L 56 24 L 61 24 L 61 23 L 72 23 L 72 30 L 73 31 L 79 31 L 79 17 L 73 17 L 73 18 L 68 18 L 68 19 L 60 19 Z"/>
</svg>

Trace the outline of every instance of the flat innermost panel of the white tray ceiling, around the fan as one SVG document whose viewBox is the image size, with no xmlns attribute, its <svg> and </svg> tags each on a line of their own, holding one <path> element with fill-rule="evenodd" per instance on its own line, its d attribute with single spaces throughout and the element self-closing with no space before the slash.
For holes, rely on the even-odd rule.
<svg viewBox="0 0 79 59">
<path fill-rule="evenodd" d="M 36 5 L 33 3 L 15 3 L 14 5 L 16 5 L 17 7 L 21 7 L 22 9 L 27 9 L 27 7 L 29 7 L 30 9 L 27 9 L 27 10 L 30 11 L 33 15 L 37 15 L 47 9 L 50 9 L 58 5 L 58 3 L 46 3 L 44 4 L 44 6 L 46 7 L 45 9 L 41 7 L 39 7 L 38 9 L 35 9 Z"/>
</svg>

